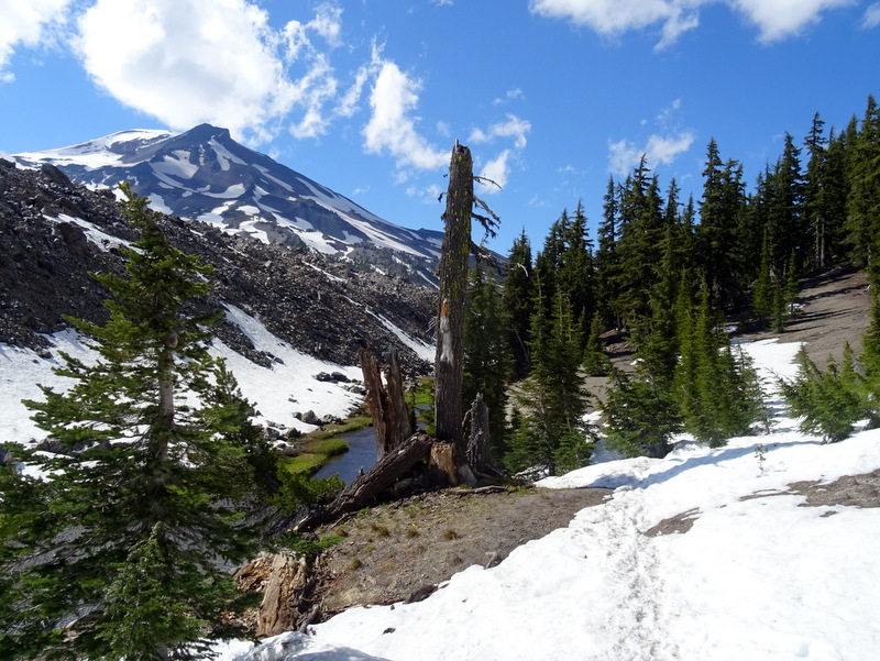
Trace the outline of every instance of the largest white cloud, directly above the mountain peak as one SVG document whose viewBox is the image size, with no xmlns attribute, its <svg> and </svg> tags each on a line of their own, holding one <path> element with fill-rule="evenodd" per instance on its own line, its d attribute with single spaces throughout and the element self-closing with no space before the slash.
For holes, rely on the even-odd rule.
<svg viewBox="0 0 880 661">
<path fill-rule="evenodd" d="M 97 85 L 173 129 L 210 122 L 260 142 L 289 115 L 305 137 L 326 131 L 337 86 L 311 35 L 338 43 L 339 20 L 321 5 L 314 21 L 278 32 L 246 0 L 98 0 L 79 19 L 76 47 Z"/>
</svg>

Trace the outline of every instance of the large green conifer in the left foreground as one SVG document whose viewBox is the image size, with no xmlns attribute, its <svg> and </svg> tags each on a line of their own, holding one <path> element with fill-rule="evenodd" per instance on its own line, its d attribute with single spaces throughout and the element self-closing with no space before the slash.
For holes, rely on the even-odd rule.
<svg viewBox="0 0 880 661">
<path fill-rule="evenodd" d="M 7 470 L 0 562 L 3 659 L 189 659 L 241 606 L 223 562 L 254 551 L 254 465 L 272 463 L 250 406 L 207 348 L 211 267 L 175 249 L 127 185 L 141 238 L 103 326 L 70 319 L 99 359 L 63 354 L 65 393 L 26 401 L 61 451 Z M 272 467 L 272 466 L 270 466 Z M 2 602 L 3 599 L 0 599 Z"/>
</svg>

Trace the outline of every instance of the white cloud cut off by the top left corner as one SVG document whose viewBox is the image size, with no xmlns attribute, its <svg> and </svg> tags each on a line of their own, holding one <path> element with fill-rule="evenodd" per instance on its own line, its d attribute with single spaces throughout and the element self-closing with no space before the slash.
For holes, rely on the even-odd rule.
<svg viewBox="0 0 880 661">
<path fill-rule="evenodd" d="M 0 82 L 10 82 L 14 75 L 8 67 L 15 48 L 32 48 L 51 40 L 53 27 L 64 23 L 70 0 L 7 0 L 0 4 Z"/>
</svg>

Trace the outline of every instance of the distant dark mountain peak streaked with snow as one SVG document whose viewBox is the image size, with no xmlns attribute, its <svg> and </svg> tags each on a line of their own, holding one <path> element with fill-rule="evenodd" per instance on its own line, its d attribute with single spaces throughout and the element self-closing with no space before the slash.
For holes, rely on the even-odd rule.
<svg viewBox="0 0 880 661">
<path fill-rule="evenodd" d="M 432 279 L 442 233 L 389 223 L 268 156 L 226 129 L 122 131 L 73 146 L 13 155 L 51 163 L 91 188 L 130 180 L 165 213 L 264 243 L 308 247 L 384 272 Z"/>
</svg>

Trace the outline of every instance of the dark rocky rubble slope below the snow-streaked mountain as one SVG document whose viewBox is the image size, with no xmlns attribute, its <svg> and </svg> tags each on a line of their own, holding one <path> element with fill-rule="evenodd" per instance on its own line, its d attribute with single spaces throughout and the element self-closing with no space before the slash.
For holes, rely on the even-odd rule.
<svg viewBox="0 0 880 661">
<path fill-rule="evenodd" d="M 215 266 L 207 305 L 257 316 L 318 359 L 356 365 L 358 349 L 369 344 L 380 355 L 396 348 L 409 373 L 429 368 L 413 345 L 432 341 L 432 289 L 211 224 L 157 218 L 173 243 Z M 73 184 L 48 164 L 31 170 L 0 159 L 0 342 L 45 346 L 44 335 L 64 328 L 65 315 L 101 321 L 106 291 L 89 273 L 121 273 L 118 249 L 134 240 L 111 190 Z M 275 360 L 254 351 L 232 323 L 218 334 L 257 363 Z"/>
</svg>

